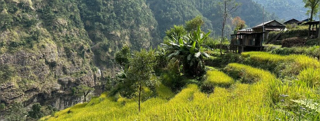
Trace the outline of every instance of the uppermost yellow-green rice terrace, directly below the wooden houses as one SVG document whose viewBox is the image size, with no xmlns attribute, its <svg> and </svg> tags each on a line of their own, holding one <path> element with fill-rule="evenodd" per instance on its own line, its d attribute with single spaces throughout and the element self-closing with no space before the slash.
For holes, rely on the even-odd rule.
<svg viewBox="0 0 320 121">
<path fill-rule="evenodd" d="M 317 59 L 305 55 L 281 56 L 267 52 L 244 52 L 243 63 L 272 71 L 278 76 L 296 76 L 307 68 L 320 68 Z"/>
</svg>

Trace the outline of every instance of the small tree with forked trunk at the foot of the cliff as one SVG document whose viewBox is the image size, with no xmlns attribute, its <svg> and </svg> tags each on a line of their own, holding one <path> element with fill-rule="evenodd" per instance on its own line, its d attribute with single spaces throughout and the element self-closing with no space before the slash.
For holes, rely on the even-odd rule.
<svg viewBox="0 0 320 121">
<path fill-rule="evenodd" d="M 72 92 L 74 95 L 84 97 L 84 102 L 87 102 L 86 97 L 92 91 L 94 91 L 94 88 L 88 87 L 87 85 L 79 85 L 72 88 Z"/>
</svg>

